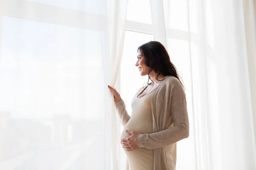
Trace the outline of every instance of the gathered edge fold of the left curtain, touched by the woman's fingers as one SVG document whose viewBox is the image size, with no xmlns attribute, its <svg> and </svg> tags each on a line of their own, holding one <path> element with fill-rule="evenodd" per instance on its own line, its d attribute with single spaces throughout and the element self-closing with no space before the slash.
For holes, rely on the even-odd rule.
<svg viewBox="0 0 256 170">
<path fill-rule="evenodd" d="M 124 47 L 125 39 L 125 21 L 127 13 L 128 0 L 112 0 L 111 8 L 109 8 L 110 21 L 109 22 L 109 44 L 110 44 L 110 61 L 111 61 L 111 87 L 116 87 L 118 75 L 120 73 L 120 65 L 122 59 L 122 51 Z M 122 169 L 120 162 L 120 122 L 119 117 L 116 114 L 115 106 L 113 103 L 113 94 L 111 99 L 108 98 L 107 104 L 111 105 L 111 169 L 119 170 Z M 107 133 L 106 133 L 107 134 Z"/>
</svg>

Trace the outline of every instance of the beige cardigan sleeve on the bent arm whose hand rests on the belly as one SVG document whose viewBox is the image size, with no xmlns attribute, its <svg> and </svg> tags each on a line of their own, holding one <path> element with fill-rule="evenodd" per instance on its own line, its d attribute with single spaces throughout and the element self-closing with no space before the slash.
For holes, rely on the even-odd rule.
<svg viewBox="0 0 256 170">
<path fill-rule="evenodd" d="M 137 138 L 139 147 L 156 149 L 174 144 L 189 136 L 186 94 L 184 93 L 183 87 L 180 83 L 172 85 L 172 92 L 169 96 L 171 97 L 171 100 L 168 101 L 171 105 L 169 112 L 172 115 L 173 127 L 156 133 L 139 134 Z"/>
</svg>

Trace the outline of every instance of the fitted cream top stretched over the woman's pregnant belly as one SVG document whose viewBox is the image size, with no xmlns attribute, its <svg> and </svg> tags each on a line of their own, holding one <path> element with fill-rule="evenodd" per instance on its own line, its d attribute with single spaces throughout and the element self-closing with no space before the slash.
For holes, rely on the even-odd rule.
<svg viewBox="0 0 256 170">
<path fill-rule="evenodd" d="M 154 90 L 152 90 L 154 91 Z M 151 98 L 153 93 L 150 91 L 143 97 L 137 98 L 137 95 L 131 102 L 132 114 L 131 119 L 125 125 L 121 139 L 131 136 L 125 130 L 133 130 L 137 133 L 152 133 L 153 118 L 151 109 Z M 124 151 L 126 148 L 124 148 Z M 132 151 L 125 151 L 128 158 L 129 170 L 153 170 L 154 153 L 152 149 L 141 147 Z"/>
</svg>

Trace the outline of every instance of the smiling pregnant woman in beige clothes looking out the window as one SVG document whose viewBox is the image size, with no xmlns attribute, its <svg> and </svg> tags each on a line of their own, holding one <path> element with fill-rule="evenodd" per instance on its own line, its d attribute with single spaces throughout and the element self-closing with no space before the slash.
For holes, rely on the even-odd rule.
<svg viewBox="0 0 256 170">
<path fill-rule="evenodd" d="M 115 88 L 116 110 L 124 130 L 122 147 L 127 155 L 127 170 L 175 170 L 176 142 L 189 136 L 186 94 L 165 47 L 151 41 L 138 48 L 140 75 L 148 83 L 131 102 L 132 114 Z M 150 81 L 150 83 L 149 83 Z"/>
</svg>

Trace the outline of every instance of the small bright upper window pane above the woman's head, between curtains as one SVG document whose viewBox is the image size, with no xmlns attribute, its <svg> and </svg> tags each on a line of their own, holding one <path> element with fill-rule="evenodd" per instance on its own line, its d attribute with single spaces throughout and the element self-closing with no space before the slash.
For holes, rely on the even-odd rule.
<svg viewBox="0 0 256 170">
<path fill-rule="evenodd" d="M 149 0 L 129 0 L 127 6 L 127 20 L 152 24 Z"/>
</svg>

